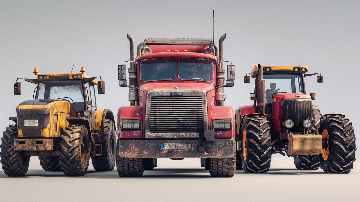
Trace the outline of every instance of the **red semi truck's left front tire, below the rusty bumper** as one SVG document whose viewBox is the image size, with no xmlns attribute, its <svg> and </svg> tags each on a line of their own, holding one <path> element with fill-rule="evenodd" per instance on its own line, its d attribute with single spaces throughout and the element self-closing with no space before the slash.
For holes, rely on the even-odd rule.
<svg viewBox="0 0 360 202">
<path fill-rule="evenodd" d="M 144 158 L 121 158 L 116 143 L 116 169 L 120 177 L 140 177 L 144 174 Z"/>
</svg>

